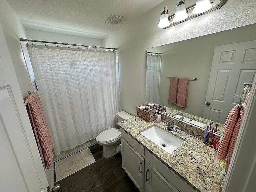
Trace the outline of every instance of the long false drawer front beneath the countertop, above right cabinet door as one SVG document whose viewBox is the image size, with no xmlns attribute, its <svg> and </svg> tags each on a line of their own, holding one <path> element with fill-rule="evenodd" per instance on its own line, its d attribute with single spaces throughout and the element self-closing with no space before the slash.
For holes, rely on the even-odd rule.
<svg viewBox="0 0 256 192">
<path fill-rule="evenodd" d="M 148 150 L 145 150 L 145 157 L 148 158 L 148 162 L 154 166 L 158 172 L 166 178 L 175 188 L 179 191 L 186 192 L 196 192 L 192 187 L 190 187 L 182 178 L 177 176 L 174 172 L 172 172 L 169 168 L 167 168 L 160 160 L 154 157 Z"/>
</svg>

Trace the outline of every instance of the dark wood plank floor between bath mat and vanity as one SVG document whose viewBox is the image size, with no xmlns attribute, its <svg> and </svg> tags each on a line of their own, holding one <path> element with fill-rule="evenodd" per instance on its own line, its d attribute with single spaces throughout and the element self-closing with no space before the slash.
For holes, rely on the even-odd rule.
<svg viewBox="0 0 256 192">
<path fill-rule="evenodd" d="M 60 192 L 138 192 L 122 168 L 121 153 L 104 158 L 98 144 L 90 150 L 96 162 L 56 182 Z"/>
</svg>

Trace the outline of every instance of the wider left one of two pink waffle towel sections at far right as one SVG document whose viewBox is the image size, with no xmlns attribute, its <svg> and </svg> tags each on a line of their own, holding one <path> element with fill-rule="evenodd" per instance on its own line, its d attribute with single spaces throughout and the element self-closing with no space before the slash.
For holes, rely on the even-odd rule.
<svg viewBox="0 0 256 192">
<path fill-rule="evenodd" d="M 224 130 L 220 138 L 220 146 L 218 148 L 218 152 L 216 155 L 216 157 L 219 158 L 220 160 L 225 160 L 228 154 L 228 149 L 232 139 L 233 131 L 236 126 L 238 109 L 239 109 L 238 106 L 239 105 L 237 104 L 232 108 L 232 110 L 229 112 L 228 117 L 226 119 Z"/>
</svg>

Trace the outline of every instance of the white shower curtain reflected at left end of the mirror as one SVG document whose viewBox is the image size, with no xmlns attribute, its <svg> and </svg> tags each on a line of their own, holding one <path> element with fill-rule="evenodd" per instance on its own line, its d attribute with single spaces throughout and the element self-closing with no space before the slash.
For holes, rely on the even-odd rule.
<svg viewBox="0 0 256 192">
<path fill-rule="evenodd" d="M 147 53 L 146 102 L 159 102 L 161 54 Z"/>
</svg>

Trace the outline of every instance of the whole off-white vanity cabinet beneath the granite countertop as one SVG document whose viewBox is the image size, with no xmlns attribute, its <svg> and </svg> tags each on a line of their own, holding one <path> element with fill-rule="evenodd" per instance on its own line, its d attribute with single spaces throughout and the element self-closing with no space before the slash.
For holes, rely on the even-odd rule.
<svg viewBox="0 0 256 192">
<path fill-rule="evenodd" d="M 140 192 L 195 192 L 122 128 L 120 130 L 122 167 Z"/>
</svg>

